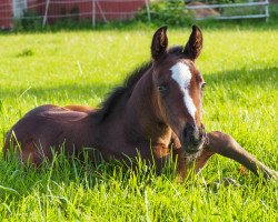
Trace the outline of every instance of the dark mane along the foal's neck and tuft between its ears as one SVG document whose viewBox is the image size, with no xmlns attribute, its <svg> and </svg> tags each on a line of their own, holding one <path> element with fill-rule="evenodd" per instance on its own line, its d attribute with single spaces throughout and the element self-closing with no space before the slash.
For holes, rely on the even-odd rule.
<svg viewBox="0 0 278 222">
<path fill-rule="evenodd" d="M 168 50 L 168 53 L 170 54 L 176 54 L 176 56 L 181 56 L 182 54 L 182 47 L 172 47 Z M 105 120 L 115 105 L 119 102 L 119 100 L 123 95 L 130 97 L 133 87 L 136 83 L 141 79 L 141 77 L 146 73 L 148 69 L 150 69 L 152 62 L 145 62 L 137 69 L 135 69 L 130 74 L 128 74 L 127 79 L 123 81 L 123 84 L 120 87 L 116 87 L 107 97 L 107 99 L 100 104 L 100 108 L 98 109 L 95 114 L 98 115 L 99 121 Z"/>
</svg>

